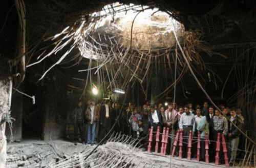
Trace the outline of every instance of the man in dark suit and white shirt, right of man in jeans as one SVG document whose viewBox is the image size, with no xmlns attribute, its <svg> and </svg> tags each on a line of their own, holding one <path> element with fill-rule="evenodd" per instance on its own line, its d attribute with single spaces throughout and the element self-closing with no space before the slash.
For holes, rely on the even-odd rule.
<svg viewBox="0 0 256 168">
<path fill-rule="evenodd" d="M 110 100 L 106 100 L 105 104 L 100 108 L 100 119 L 99 119 L 99 123 L 100 123 L 99 139 L 100 140 L 102 140 L 111 129 L 110 112 L 111 112 L 111 102 Z"/>
</svg>

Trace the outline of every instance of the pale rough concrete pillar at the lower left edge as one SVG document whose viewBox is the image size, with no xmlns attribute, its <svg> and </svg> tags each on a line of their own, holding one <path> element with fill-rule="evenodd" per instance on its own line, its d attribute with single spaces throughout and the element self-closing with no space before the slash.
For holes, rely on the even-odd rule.
<svg viewBox="0 0 256 168">
<path fill-rule="evenodd" d="M 5 78 L 0 79 L 0 168 L 5 167 L 6 163 L 6 117 L 10 110 L 10 94 L 12 80 Z"/>
</svg>

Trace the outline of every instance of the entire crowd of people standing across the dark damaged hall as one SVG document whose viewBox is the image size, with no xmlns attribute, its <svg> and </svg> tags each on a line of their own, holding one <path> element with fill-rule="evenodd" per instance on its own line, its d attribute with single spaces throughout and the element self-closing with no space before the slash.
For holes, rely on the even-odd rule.
<svg viewBox="0 0 256 168">
<path fill-rule="evenodd" d="M 209 106 L 208 102 L 204 102 L 202 108 L 197 105 L 195 109 L 193 103 L 178 107 L 175 102 L 165 104 L 165 106 L 162 103 L 150 104 L 150 102 L 146 102 L 143 106 L 134 106 L 133 103 L 129 103 L 122 109 L 120 104 L 112 103 L 110 100 L 96 104 L 96 100 L 91 99 L 87 102 L 86 107 L 82 106 L 82 102 L 79 101 L 72 112 L 75 144 L 80 141 L 84 144 L 93 145 L 102 139 L 108 139 L 110 137 L 108 133 L 114 126 L 112 132 L 122 132 L 140 139 L 143 151 L 145 151 L 149 129 L 153 127 L 155 135 L 157 128 L 160 128 L 160 133 L 162 133 L 163 127 L 165 127 L 169 128 L 170 137 L 168 138 L 166 154 L 170 154 L 173 146 L 170 145 L 173 142 L 172 139 L 174 139 L 177 131 L 180 131 L 183 133 L 182 157 L 186 157 L 188 136 L 189 132 L 192 131 L 193 137 L 198 137 L 197 134 L 200 133 L 200 158 L 204 160 L 205 134 L 207 133 L 209 158 L 210 161 L 214 161 L 217 135 L 221 133 L 224 134 L 228 142 L 229 163 L 232 164 L 236 161 L 240 133 L 244 131 L 244 117 L 239 108 L 228 108 L 221 105 L 218 108 L 220 111 Z M 155 137 L 153 136 L 153 139 Z M 197 138 L 193 139 L 195 141 Z M 152 143 L 152 151 L 154 151 L 154 140 Z M 197 149 L 197 146 L 193 145 L 192 148 Z M 175 154 L 178 155 L 178 150 Z M 196 152 L 192 153 L 192 157 L 196 157 Z M 224 163 L 223 158 L 223 153 L 220 152 L 220 162 Z"/>
</svg>

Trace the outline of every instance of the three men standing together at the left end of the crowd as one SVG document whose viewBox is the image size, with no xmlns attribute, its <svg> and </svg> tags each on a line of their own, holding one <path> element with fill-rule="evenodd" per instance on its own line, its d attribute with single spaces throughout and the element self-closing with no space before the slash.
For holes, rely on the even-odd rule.
<svg viewBox="0 0 256 168">
<path fill-rule="evenodd" d="M 99 106 L 96 105 L 95 99 L 91 99 L 86 109 L 82 106 L 82 101 L 78 101 L 77 107 L 72 112 L 72 118 L 75 145 L 79 140 L 84 144 L 96 144 L 96 138 L 103 139 L 111 129 L 110 100 Z"/>
</svg>

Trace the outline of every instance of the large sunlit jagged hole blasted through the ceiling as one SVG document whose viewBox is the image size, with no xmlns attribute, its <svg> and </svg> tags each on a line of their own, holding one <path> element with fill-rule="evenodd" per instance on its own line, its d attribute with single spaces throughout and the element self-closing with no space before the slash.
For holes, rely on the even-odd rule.
<svg viewBox="0 0 256 168">
<path fill-rule="evenodd" d="M 85 58 L 105 58 L 99 50 L 106 48 L 132 48 L 151 50 L 171 48 L 184 38 L 184 26 L 166 12 L 148 6 L 106 5 L 90 14 L 90 24 L 82 22 L 76 33 L 76 43 Z M 79 29 L 78 29 L 79 30 Z M 131 46 L 132 45 L 132 46 Z M 97 51 L 92 52 L 95 49 Z"/>
</svg>

